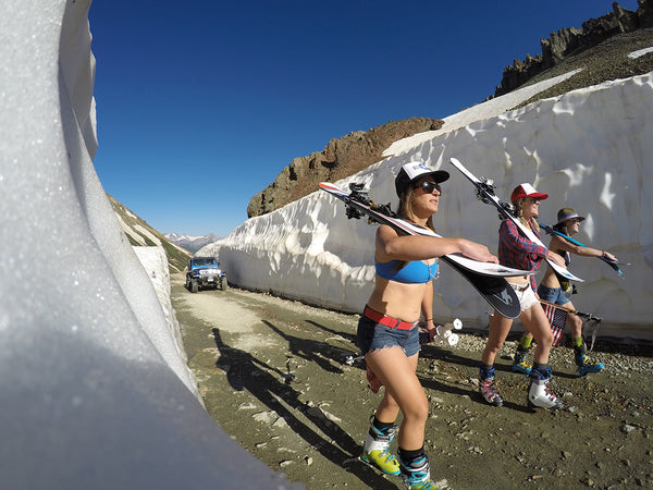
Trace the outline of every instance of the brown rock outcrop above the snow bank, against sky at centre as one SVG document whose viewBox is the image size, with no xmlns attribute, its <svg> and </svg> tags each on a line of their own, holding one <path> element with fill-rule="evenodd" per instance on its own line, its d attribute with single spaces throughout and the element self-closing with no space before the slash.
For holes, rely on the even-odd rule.
<svg viewBox="0 0 653 490">
<path fill-rule="evenodd" d="M 267 188 L 247 206 L 249 218 L 264 215 L 317 189 L 318 182 L 334 182 L 381 161 L 392 143 L 424 131 L 442 127 L 439 119 L 411 118 L 390 121 L 369 131 L 357 131 L 333 138 L 322 151 L 295 158 Z"/>
</svg>

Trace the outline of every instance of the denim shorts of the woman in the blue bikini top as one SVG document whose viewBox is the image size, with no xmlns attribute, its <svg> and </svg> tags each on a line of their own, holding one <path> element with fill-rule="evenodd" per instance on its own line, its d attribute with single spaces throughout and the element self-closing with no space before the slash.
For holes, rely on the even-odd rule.
<svg viewBox="0 0 653 490">
<path fill-rule="evenodd" d="M 420 350 L 419 329 L 417 327 L 410 330 L 391 329 L 361 316 L 358 320 L 356 345 L 364 356 L 370 351 L 398 345 L 404 350 L 406 357 L 412 357 Z"/>
</svg>

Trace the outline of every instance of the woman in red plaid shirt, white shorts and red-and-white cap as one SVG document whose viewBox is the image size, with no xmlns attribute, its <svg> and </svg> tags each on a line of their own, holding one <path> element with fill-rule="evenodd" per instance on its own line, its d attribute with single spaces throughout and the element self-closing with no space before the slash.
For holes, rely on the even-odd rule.
<svg viewBox="0 0 653 490">
<path fill-rule="evenodd" d="M 520 184 L 513 191 L 510 201 L 515 206 L 515 213 L 525 226 L 530 226 L 538 236 L 539 225 L 537 218 L 540 212 L 540 201 L 546 199 L 547 194 L 537 192 L 530 184 Z M 534 270 L 540 267 L 544 258 L 550 258 L 556 264 L 563 265 L 559 255 L 553 254 L 546 247 L 538 245 L 519 233 L 518 226 L 508 219 L 501 222 L 498 229 L 498 261 L 507 267 L 522 270 Z M 560 408 L 563 403 L 549 390 L 551 380 L 551 368 L 549 367 L 549 352 L 553 344 L 553 333 L 546 319 L 546 315 L 535 295 L 535 280 L 533 275 L 507 278 L 519 297 L 521 314 L 519 319 L 531 332 L 538 343 L 534 352 L 534 363 L 530 371 L 530 384 L 528 388 L 528 405 L 542 408 Z M 491 405 L 501 406 L 503 400 L 494 383 L 494 358 L 503 346 L 513 319 L 503 317 L 494 311 L 490 317 L 490 331 L 488 342 L 481 357 L 479 372 L 479 391 L 485 402 Z"/>
</svg>

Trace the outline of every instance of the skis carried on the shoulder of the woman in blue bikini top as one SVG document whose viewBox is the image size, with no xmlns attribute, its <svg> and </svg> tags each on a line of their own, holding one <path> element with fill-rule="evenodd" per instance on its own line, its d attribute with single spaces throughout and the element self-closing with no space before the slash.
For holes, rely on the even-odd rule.
<svg viewBox="0 0 653 490">
<path fill-rule="evenodd" d="M 362 184 L 349 184 L 350 193 L 328 182 L 321 182 L 320 188 L 345 203 L 347 218 L 359 219 L 367 216 L 371 222 L 387 224 L 399 233 L 424 235 L 440 238 L 433 231 L 409 223 L 395 216 L 390 205 L 378 205 L 370 200 Z M 442 261 L 460 273 L 481 296 L 506 318 L 517 318 L 520 314 L 519 299 L 505 280 L 506 277 L 531 274 L 532 272 L 513 269 L 500 264 L 479 262 L 460 254 L 442 256 Z"/>
</svg>

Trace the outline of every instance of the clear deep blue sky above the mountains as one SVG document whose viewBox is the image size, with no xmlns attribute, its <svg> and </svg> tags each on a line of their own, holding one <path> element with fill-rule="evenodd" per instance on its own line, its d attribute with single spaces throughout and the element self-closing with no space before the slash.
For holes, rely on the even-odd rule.
<svg viewBox="0 0 653 490">
<path fill-rule="evenodd" d="M 293 158 L 481 102 L 540 38 L 609 11 L 611 0 L 95 0 L 95 168 L 159 232 L 226 236 Z"/>
</svg>

